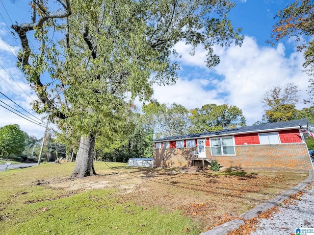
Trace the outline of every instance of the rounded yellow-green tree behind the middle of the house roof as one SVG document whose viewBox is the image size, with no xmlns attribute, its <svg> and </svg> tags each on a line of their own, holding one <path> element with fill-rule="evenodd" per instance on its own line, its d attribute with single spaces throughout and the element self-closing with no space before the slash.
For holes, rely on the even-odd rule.
<svg viewBox="0 0 314 235">
<path fill-rule="evenodd" d="M 189 128 L 190 133 L 217 131 L 246 125 L 242 110 L 235 105 L 206 104 L 201 109 L 191 110 L 190 113 L 192 122 L 192 126 Z"/>
</svg>

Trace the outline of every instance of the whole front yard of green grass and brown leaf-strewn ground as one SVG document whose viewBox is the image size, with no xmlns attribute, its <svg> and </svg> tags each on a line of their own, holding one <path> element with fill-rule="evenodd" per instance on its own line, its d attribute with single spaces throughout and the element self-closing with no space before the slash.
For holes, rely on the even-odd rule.
<svg viewBox="0 0 314 235">
<path fill-rule="evenodd" d="M 199 234 L 308 176 L 308 172 L 264 169 L 216 173 L 96 162 L 99 175 L 68 180 L 74 164 L 0 172 L 0 231 L 10 235 Z"/>
</svg>

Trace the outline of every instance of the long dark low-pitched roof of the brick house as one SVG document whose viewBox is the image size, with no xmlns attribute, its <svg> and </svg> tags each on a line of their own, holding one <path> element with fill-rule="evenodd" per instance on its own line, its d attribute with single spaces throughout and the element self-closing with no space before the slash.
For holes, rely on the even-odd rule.
<svg viewBox="0 0 314 235">
<path fill-rule="evenodd" d="M 306 126 L 307 124 L 308 124 L 308 119 L 297 119 L 297 120 L 273 122 L 273 123 L 267 123 L 267 124 L 262 124 L 262 125 L 255 125 L 255 126 L 243 126 L 243 127 L 237 127 L 234 129 L 224 129 L 220 131 L 202 132 L 202 133 L 197 133 L 197 134 L 186 134 L 183 136 L 170 136 L 170 137 L 165 137 L 165 138 L 154 140 L 153 142 L 195 139 L 195 138 L 200 138 L 200 137 L 227 136 L 227 135 L 234 135 L 234 134 L 261 132 L 261 131 L 266 132 L 266 131 L 275 131 L 275 130 L 297 129 L 297 128 L 300 128 L 300 125 Z"/>
</svg>

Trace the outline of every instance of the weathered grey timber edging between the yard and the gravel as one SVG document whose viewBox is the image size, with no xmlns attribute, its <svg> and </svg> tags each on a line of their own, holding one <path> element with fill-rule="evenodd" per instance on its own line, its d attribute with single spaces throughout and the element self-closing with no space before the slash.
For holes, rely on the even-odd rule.
<svg viewBox="0 0 314 235">
<path fill-rule="evenodd" d="M 305 187 L 307 187 L 308 184 L 314 181 L 313 173 L 314 173 L 314 170 L 310 170 L 309 176 L 305 181 L 301 182 L 297 186 L 294 186 L 293 188 L 290 188 L 288 191 L 269 200 L 268 202 L 264 202 L 261 205 L 253 208 L 252 210 L 246 211 L 245 213 L 241 214 L 239 217 L 242 219 L 238 218 L 238 219 L 231 220 L 209 231 L 206 231 L 205 233 L 201 235 L 226 235 L 228 232 L 238 229 L 240 225 L 245 224 L 244 223 L 245 220 L 253 219 L 254 217 L 257 217 L 260 213 L 267 211 L 268 209 L 272 207 L 278 206 L 279 203 L 282 203 L 283 201 L 288 199 L 291 194 L 293 195 L 302 191 Z"/>
</svg>

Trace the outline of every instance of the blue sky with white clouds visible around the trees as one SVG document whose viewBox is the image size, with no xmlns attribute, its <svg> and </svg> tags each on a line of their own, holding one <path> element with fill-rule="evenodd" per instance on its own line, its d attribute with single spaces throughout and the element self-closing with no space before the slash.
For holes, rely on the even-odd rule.
<svg viewBox="0 0 314 235">
<path fill-rule="evenodd" d="M 262 95 L 274 86 L 294 83 L 299 86 L 301 99 L 306 92 L 309 77 L 302 72 L 303 54 L 296 52 L 293 39 L 285 39 L 271 47 L 266 44 L 271 34 L 273 17 L 292 0 L 236 0 L 230 12 L 235 27 L 242 28 L 245 36 L 242 47 L 215 47 L 221 63 L 212 70 L 206 68 L 206 52 L 197 47 L 195 56 L 190 56 L 190 47 L 178 43 L 175 48 L 182 57 L 178 59 L 182 69 L 174 86 L 154 85 L 154 97 L 161 103 L 182 104 L 187 109 L 215 103 L 236 105 L 243 111 L 247 125 L 261 120 Z M 9 16 L 10 17 L 9 17 Z M 15 68 L 15 51 L 20 48 L 8 27 L 12 22 L 30 22 L 30 8 L 25 0 L 0 0 L 0 92 L 21 107 L 31 111 L 29 103 L 36 99 L 22 73 Z M 14 79 L 14 80 L 13 80 Z M 14 90 L 15 91 L 14 91 Z M 30 116 L 2 94 L 0 101 Z M 2 102 L 1 105 L 5 106 Z M 140 104 L 138 104 L 140 105 Z M 5 106 L 7 107 L 7 106 Z M 304 104 L 298 104 L 301 109 Z M 8 107 L 7 107 L 8 108 Z M 16 111 L 14 111 L 16 112 Z M 38 121 L 38 119 L 30 116 Z M 37 138 L 45 128 L 31 123 L 0 106 L 0 126 L 19 124 L 21 129 Z"/>
</svg>

